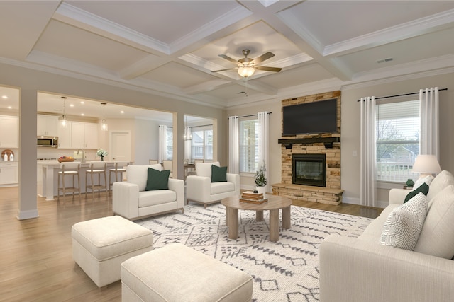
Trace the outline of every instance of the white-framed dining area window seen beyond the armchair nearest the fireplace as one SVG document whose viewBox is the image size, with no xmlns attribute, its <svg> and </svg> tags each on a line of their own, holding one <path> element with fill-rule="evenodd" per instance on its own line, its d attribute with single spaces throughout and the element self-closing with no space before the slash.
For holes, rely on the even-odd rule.
<svg viewBox="0 0 454 302">
<path fill-rule="evenodd" d="M 213 125 L 203 127 L 191 127 L 192 160 L 213 160 Z"/>
</svg>

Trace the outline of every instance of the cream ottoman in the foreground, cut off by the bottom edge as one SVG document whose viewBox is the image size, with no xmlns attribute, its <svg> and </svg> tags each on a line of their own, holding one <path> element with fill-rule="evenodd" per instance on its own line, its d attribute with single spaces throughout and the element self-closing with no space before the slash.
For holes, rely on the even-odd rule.
<svg viewBox="0 0 454 302">
<path fill-rule="evenodd" d="M 252 296 L 249 274 L 181 243 L 121 264 L 121 301 L 243 302 Z"/>
</svg>

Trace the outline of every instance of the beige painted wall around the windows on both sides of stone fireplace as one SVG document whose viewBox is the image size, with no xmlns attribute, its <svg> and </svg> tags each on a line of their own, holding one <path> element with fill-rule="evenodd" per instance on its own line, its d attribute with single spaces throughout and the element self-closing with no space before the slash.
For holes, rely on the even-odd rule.
<svg viewBox="0 0 454 302">
<path fill-rule="evenodd" d="M 425 76 L 417 79 L 394 79 L 387 83 L 363 83 L 361 85 L 344 86 L 341 91 L 341 184 L 345 190 L 343 202 L 360 204 L 360 104 L 357 102 L 361 97 L 374 95 L 376 97 L 396 95 L 402 93 L 418 92 L 420 88 L 448 88 L 448 91 L 440 92 L 440 136 L 441 158 L 440 165 L 443 170 L 454 171 L 454 74 L 438 76 Z M 336 90 L 336 89 L 332 89 Z M 329 90 L 329 91 L 332 91 Z M 293 96 L 311 95 L 311 93 L 295 93 Z M 287 97 L 292 98 L 292 96 Z M 418 98 L 418 95 L 416 95 Z M 281 138 L 282 113 L 281 100 L 276 99 L 253 106 L 244 106 L 226 110 L 226 117 L 231 115 L 250 115 L 260 111 L 270 111 L 270 184 L 281 181 L 281 146 L 277 139 Z M 226 122 L 228 125 L 228 122 Z M 228 146 L 228 127 L 226 127 L 225 144 Z M 227 148 L 228 149 L 228 148 Z M 357 156 L 353 156 L 356 151 Z M 253 187 L 253 178 L 242 176 L 240 178 L 243 188 Z M 380 184 L 384 187 L 377 191 L 380 205 L 383 207 L 388 202 L 390 187 L 402 187 L 401 184 Z"/>
</svg>

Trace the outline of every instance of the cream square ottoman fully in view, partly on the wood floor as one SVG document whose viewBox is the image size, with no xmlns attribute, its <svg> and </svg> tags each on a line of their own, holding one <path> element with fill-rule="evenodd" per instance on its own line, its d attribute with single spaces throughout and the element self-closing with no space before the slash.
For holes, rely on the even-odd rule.
<svg viewBox="0 0 454 302">
<path fill-rule="evenodd" d="M 74 224 L 72 257 L 101 287 L 120 279 L 121 262 L 152 250 L 153 232 L 121 216 Z"/>
</svg>

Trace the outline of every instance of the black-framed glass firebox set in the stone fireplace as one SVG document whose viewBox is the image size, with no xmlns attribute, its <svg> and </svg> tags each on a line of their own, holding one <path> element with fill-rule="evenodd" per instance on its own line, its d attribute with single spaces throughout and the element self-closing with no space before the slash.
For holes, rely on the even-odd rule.
<svg viewBox="0 0 454 302">
<path fill-rule="evenodd" d="M 326 187 L 326 154 L 292 154 L 292 183 Z"/>
</svg>

